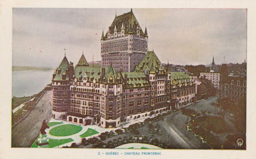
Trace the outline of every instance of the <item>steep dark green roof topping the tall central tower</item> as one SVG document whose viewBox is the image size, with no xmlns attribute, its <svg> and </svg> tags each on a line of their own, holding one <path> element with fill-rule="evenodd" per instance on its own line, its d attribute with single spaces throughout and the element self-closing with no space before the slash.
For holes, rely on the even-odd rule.
<svg viewBox="0 0 256 159">
<path fill-rule="evenodd" d="M 120 32 L 122 30 L 122 25 L 124 26 L 124 34 L 127 34 L 129 32 L 136 34 L 136 29 L 137 29 L 137 27 L 139 27 L 140 34 L 144 35 L 144 33 L 139 25 L 139 22 L 135 18 L 132 10 L 128 13 L 124 13 L 120 16 L 115 17 L 114 21 L 109 26 L 110 33 L 111 34 L 114 33 L 115 27 L 116 27 L 117 32 Z M 129 30 L 129 28 L 130 28 L 130 30 Z M 105 38 L 108 38 L 108 32 L 106 33 Z"/>
</svg>

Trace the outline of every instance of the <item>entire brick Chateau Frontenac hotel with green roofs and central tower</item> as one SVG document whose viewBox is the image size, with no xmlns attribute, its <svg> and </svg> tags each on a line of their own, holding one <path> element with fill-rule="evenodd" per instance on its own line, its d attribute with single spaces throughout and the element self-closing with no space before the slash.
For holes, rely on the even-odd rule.
<svg viewBox="0 0 256 159">
<path fill-rule="evenodd" d="M 116 16 L 101 36 L 101 68 L 89 66 L 84 54 L 76 66 L 65 55 L 54 71 L 52 118 L 117 127 L 194 101 L 188 73 L 170 72 L 147 50 L 147 29 L 132 10 Z"/>
</svg>

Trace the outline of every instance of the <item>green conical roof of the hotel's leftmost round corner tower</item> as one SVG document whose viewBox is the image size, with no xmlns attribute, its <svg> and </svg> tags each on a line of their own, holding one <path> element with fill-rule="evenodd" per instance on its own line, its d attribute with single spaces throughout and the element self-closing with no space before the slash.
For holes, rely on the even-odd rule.
<svg viewBox="0 0 256 159">
<path fill-rule="evenodd" d="M 68 80 L 68 76 L 66 76 L 66 79 L 62 79 L 62 75 L 66 75 L 66 69 L 68 69 L 69 62 L 66 56 L 64 56 L 63 60 L 60 63 L 60 66 L 57 69 L 55 77 L 52 79 L 53 81 L 63 81 Z M 59 73 L 60 70 L 60 73 Z"/>
</svg>

